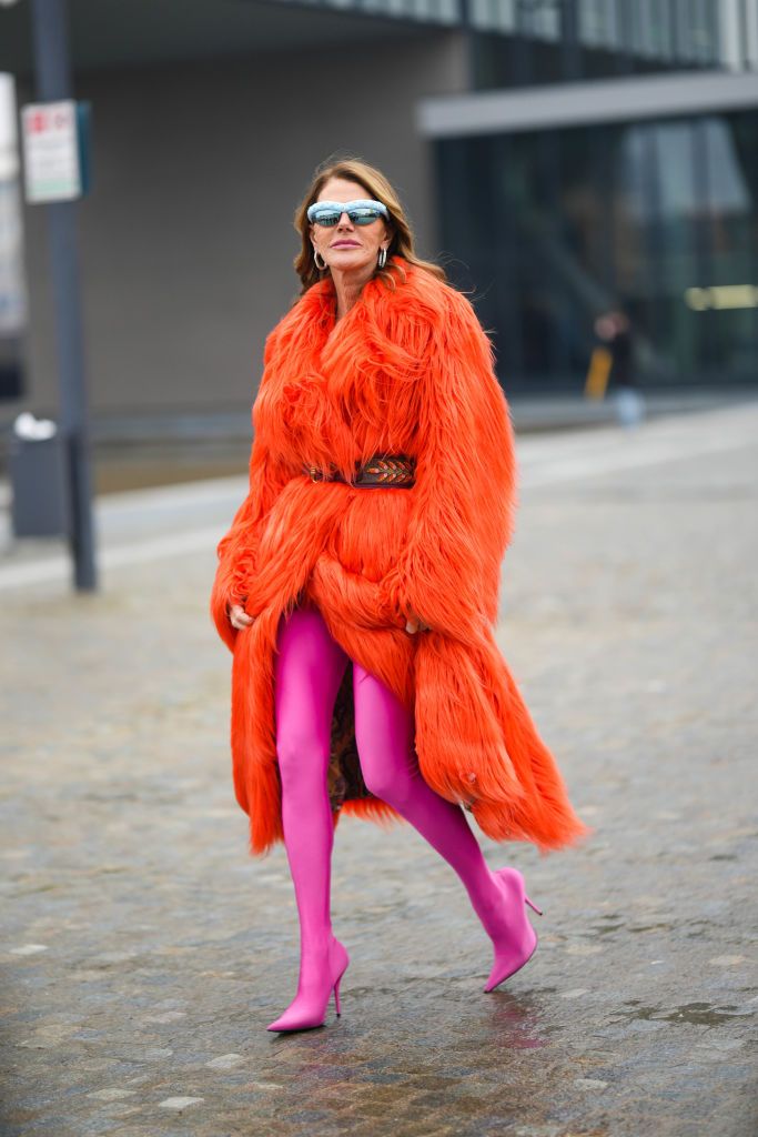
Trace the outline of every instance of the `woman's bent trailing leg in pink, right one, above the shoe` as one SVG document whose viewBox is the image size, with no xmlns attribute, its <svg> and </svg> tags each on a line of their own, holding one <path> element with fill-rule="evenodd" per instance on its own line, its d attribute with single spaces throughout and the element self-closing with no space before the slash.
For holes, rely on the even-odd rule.
<svg viewBox="0 0 758 1137">
<path fill-rule="evenodd" d="M 502 890 L 459 805 L 424 781 L 413 737 L 413 713 L 360 664 L 353 664 L 356 744 L 367 788 L 409 821 L 460 877 L 491 937 L 508 933 Z"/>
</svg>

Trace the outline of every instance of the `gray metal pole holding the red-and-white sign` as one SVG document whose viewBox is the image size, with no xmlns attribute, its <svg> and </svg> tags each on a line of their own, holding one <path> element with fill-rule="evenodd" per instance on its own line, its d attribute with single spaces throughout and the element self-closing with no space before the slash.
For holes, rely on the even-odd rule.
<svg viewBox="0 0 758 1137">
<path fill-rule="evenodd" d="M 36 97 L 72 98 L 67 0 L 32 0 Z M 48 207 L 52 293 L 58 338 L 60 429 L 68 479 L 69 543 L 78 591 L 97 588 L 92 524 L 92 479 L 84 343 L 76 248 L 76 204 Z"/>
</svg>

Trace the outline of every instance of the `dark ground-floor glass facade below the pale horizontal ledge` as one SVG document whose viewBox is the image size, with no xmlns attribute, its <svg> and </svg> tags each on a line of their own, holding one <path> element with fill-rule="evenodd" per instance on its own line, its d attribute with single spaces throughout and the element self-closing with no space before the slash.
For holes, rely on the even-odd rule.
<svg viewBox="0 0 758 1137">
<path fill-rule="evenodd" d="M 576 389 L 616 306 L 642 382 L 756 382 L 758 114 L 436 146 L 449 273 L 509 388 Z"/>
</svg>

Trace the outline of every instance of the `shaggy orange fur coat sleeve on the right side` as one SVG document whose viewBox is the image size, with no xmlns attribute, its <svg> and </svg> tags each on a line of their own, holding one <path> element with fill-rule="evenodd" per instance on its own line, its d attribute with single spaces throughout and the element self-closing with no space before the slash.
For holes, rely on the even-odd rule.
<svg viewBox="0 0 758 1137">
<path fill-rule="evenodd" d="M 516 464 L 492 345 L 468 300 L 444 289 L 418 400 L 416 490 L 407 541 L 383 590 L 391 608 L 473 642 L 498 617 Z M 455 581 L 455 588 L 451 588 Z"/>
</svg>

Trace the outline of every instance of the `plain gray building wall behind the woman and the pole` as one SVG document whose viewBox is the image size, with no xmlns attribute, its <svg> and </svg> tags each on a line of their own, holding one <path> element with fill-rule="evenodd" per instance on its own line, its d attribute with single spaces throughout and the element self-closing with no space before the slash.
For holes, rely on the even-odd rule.
<svg viewBox="0 0 758 1137">
<path fill-rule="evenodd" d="M 415 106 L 464 90 L 465 61 L 460 33 L 431 32 L 78 76 L 76 97 L 93 106 L 94 188 L 78 218 L 95 417 L 249 408 L 264 338 L 298 291 L 293 209 L 335 149 L 385 171 L 433 255 L 431 152 Z M 27 206 L 25 223 L 25 402 L 55 413 L 44 210 Z"/>
</svg>

